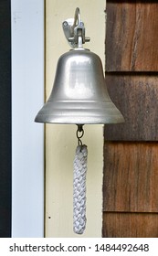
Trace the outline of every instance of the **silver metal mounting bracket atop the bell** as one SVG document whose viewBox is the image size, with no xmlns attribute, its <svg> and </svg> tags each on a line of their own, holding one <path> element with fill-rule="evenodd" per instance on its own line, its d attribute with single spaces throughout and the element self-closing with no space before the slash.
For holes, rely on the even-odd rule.
<svg viewBox="0 0 158 256">
<path fill-rule="evenodd" d="M 90 42 L 90 37 L 85 37 L 85 27 L 80 19 L 79 7 L 76 8 L 74 18 L 66 19 L 62 27 L 71 48 L 82 48 L 82 44 Z"/>
</svg>

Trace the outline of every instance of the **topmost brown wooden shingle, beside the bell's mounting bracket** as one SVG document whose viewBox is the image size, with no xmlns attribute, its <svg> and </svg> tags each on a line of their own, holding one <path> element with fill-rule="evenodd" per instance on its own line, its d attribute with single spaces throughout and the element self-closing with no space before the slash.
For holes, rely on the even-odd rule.
<svg viewBox="0 0 158 256">
<path fill-rule="evenodd" d="M 108 1 L 107 71 L 158 70 L 158 3 Z"/>
</svg>

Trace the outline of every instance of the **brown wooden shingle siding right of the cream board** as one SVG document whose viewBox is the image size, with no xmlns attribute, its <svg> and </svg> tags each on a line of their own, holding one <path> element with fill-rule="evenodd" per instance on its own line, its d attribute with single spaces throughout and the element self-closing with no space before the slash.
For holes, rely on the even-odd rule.
<svg viewBox="0 0 158 256">
<path fill-rule="evenodd" d="M 158 237 L 158 2 L 107 1 L 103 237 Z"/>
</svg>

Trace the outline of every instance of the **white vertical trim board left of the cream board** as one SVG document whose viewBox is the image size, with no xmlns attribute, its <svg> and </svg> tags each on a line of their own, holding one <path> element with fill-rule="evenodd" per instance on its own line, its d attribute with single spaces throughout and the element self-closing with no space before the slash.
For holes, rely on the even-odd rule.
<svg viewBox="0 0 158 256">
<path fill-rule="evenodd" d="M 11 0 L 12 237 L 44 236 L 44 0 Z"/>
</svg>

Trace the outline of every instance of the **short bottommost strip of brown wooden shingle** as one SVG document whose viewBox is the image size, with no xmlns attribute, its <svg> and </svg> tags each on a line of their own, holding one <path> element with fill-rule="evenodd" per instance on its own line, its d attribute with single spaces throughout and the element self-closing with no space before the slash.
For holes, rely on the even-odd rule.
<svg viewBox="0 0 158 256">
<path fill-rule="evenodd" d="M 158 238 L 158 214 L 105 212 L 102 237 Z"/>
</svg>

